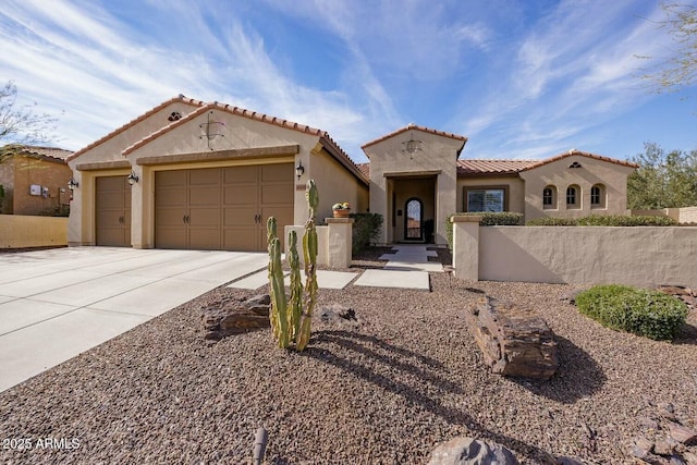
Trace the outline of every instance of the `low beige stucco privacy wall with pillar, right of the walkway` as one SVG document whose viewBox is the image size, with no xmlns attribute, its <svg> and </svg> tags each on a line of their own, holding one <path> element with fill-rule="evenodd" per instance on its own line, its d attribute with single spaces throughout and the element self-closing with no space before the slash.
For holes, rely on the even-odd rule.
<svg viewBox="0 0 697 465">
<path fill-rule="evenodd" d="M 697 287 L 697 228 L 479 227 L 468 237 L 453 262 L 476 254 L 479 280 Z"/>
</svg>

